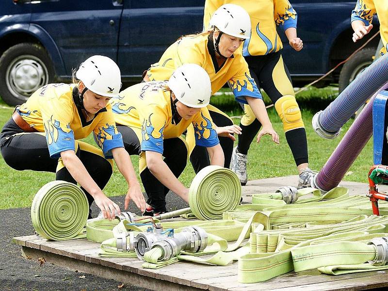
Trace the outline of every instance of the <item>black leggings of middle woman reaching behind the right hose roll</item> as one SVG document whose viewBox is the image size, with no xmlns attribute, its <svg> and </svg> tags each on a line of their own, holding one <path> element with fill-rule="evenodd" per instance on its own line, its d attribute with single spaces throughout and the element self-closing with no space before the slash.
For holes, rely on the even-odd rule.
<svg viewBox="0 0 388 291">
<path fill-rule="evenodd" d="M 170 190 L 152 175 L 146 166 L 145 152 L 141 151 L 138 136 L 133 129 L 127 126 L 117 125 L 117 130 L 123 136 L 124 147 L 129 155 L 140 156 L 139 172 L 148 196 L 147 204 L 152 206 L 155 212 L 166 211 L 166 195 Z M 177 137 L 163 140 L 163 161 L 177 178 L 182 174 L 186 167 L 187 155 L 187 146 L 180 138 Z"/>
</svg>

